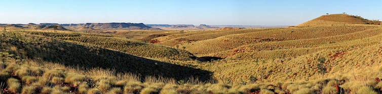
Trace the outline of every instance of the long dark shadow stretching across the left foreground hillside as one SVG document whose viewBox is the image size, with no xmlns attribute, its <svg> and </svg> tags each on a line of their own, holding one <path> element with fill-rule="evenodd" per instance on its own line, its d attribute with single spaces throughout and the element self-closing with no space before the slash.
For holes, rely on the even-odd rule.
<svg viewBox="0 0 382 94">
<path fill-rule="evenodd" d="M 212 72 L 186 66 L 150 60 L 134 55 L 108 50 L 96 46 L 85 46 L 63 41 L 39 41 L 38 43 L 6 40 L 8 44 L 23 49 L 24 58 L 41 59 L 65 66 L 80 66 L 85 69 L 115 69 L 119 73 L 130 72 L 144 76 L 161 75 L 177 80 L 199 77 L 201 81 L 211 80 Z"/>
</svg>

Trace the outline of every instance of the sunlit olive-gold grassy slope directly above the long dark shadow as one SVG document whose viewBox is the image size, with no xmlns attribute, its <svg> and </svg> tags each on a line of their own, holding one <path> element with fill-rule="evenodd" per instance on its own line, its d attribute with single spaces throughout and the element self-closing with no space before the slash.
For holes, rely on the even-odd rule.
<svg viewBox="0 0 382 94">
<path fill-rule="evenodd" d="M 196 59 L 193 54 L 187 51 L 164 47 L 160 45 L 147 44 L 136 40 L 118 38 L 110 35 L 85 34 L 77 32 L 41 32 L 25 31 L 30 34 L 43 35 L 52 38 L 58 38 L 67 41 L 75 41 L 86 44 L 92 44 L 99 47 L 109 48 L 136 56 L 148 58 L 163 58 L 174 60 L 192 60 Z"/>
</svg>

